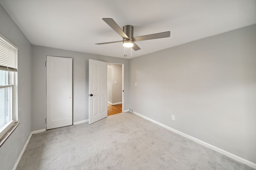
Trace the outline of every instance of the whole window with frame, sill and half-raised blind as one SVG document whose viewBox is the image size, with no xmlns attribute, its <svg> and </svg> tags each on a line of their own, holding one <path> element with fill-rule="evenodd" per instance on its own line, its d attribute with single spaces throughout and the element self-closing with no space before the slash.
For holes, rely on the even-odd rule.
<svg viewBox="0 0 256 170">
<path fill-rule="evenodd" d="M 0 34 L 0 146 L 18 125 L 17 51 Z"/>
</svg>

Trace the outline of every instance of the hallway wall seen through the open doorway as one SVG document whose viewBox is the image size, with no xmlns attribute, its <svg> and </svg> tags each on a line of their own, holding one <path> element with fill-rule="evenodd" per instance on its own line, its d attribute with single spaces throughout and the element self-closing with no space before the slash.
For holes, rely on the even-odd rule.
<svg viewBox="0 0 256 170">
<path fill-rule="evenodd" d="M 108 102 L 122 102 L 122 64 L 108 64 Z"/>
</svg>

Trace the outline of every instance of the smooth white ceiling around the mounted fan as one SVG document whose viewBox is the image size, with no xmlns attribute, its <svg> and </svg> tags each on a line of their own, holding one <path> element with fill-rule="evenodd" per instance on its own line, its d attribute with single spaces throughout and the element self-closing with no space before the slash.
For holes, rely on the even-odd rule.
<svg viewBox="0 0 256 170">
<path fill-rule="evenodd" d="M 139 41 L 138 57 L 256 23 L 256 0 L 0 0 L 33 45 L 124 57 L 118 35 L 102 18 L 134 37 L 171 31 L 171 37 Z M 125 58 L 130 58 L 130 48 Z"/>
</svg>

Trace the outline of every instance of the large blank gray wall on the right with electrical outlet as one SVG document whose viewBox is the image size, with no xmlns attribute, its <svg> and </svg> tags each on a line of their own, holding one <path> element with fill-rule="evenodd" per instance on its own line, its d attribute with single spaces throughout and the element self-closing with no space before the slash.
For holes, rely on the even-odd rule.
<svg viewBox="0 0 256 170">
<path fill-rule="evenodd" d="M 130 108 L 256 163 L 256 25 L 131 59 Z"/>
</svg>

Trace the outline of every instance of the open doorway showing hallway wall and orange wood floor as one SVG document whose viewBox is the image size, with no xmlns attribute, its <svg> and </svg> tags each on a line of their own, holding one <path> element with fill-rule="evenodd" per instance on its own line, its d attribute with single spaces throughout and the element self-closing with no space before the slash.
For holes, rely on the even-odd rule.
<svg viewBox="0 0 256 170">
<path fill-rule="evenodd" d="M 108 116 L 123 112 L 124 65 L 108 63 Z"/>
</svg>

